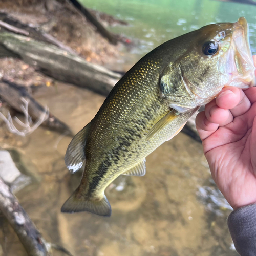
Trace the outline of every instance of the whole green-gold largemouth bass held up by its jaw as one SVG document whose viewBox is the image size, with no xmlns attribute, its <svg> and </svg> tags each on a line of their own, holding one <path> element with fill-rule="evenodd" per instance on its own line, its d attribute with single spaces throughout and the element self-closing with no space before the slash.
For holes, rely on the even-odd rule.
<svg viewBox="0 0 256 256">
<path fill-rule="evenodd" d="M 223 87 L 255 86 L 254 70 L 245 18 L 205 26 L 145 55 L 68 146 L 68 169 L 84 171 L 61 211 L 110 216 L 105 188 L 121 174 L 143 176 L 148 154 Z"/>
</svg>

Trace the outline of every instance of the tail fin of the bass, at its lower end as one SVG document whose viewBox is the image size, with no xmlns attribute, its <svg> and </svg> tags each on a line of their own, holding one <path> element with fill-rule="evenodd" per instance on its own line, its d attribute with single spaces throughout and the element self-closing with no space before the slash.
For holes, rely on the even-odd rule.
<svg viewBox="0 0 256 256">
<path fill-rule="evenodd" d="M 61 212 L 72 214 L 73 212 L 89 211 L 101 216 L 111 216 L 111 206 L 105 195 L 100 201 L 95 198 L 77 198 L 77 190 L 78 189 L 76 189 L 71 197 L 63 204 Z"/>
</svg>

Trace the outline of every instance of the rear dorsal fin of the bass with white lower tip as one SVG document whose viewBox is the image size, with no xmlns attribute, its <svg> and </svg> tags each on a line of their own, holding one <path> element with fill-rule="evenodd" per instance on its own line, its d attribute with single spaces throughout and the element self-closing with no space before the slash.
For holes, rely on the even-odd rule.
<svg viewBox="0 0 256 256">
<path fill-rule="evenodd" d="M 65 164 L 72 174 L 81 169 L 82 165 L 86 161 L 84 146 L 86 145 L 90 126 L 90 123 L 88 123 L 83 127 L 83 129 L 71 140 L 68 146 L 65 155 Z"/>
</svg>

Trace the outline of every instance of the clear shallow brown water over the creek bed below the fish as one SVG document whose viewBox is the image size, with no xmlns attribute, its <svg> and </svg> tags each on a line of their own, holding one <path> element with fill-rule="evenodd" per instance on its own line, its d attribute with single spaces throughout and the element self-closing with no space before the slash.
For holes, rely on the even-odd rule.
<svg viewBox="0 0 256 256">
<path fill-rule="evenodd" d="M 39 89 L 35 97 L 75 133 L 104 100 L 62 83 Z M 2 146 L 12 141 L 37 168 L 41 182 L 17 197 L 47 241 L 77 256 L 238 255 L 226 226 L 230 206 L 212 183 L 200 143 L 180 133 L 147 157 L 145 176 L 120 176 L 106 189 L 112 206 L 107 218 L 60 212 L 80 179 L 80 174 L 69 174 L 63 161 L 70 140 L 39 127 L 28 137 L 1 141 Z M 4 255 L 25 256 L 7 224 L 2 232 Z"/>
</svg>

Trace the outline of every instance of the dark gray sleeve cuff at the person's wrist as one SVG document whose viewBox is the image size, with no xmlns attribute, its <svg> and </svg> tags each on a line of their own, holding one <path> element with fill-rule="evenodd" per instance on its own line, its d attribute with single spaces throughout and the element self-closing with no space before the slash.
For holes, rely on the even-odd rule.
<svg viewBox="0 0 256 256">
<path fill-rule="evenodd" d="M 250 204 L 231 212 L 227 225 L 234 246 L 241 256 L 256 255 L 256 204 Z"/>
</svg>

